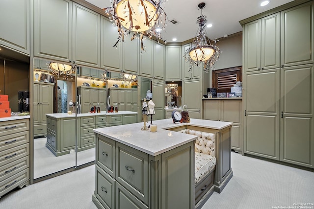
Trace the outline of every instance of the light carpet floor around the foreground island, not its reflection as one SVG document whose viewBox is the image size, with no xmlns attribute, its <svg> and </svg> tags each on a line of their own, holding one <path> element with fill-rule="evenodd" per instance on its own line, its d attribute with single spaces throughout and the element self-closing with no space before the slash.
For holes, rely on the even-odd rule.
<svg viewBox="0 0 314 209">
<path fill-rule="evenodd" d="M 314 203 L 314 172 L 232 153 L 234 176 L 202 209 L 274 209 Z M 13 191 L 0 209 L 96 209 L 95 165 Z M 310 206 L 312 207 L 312 206 Z"/>
</svg>

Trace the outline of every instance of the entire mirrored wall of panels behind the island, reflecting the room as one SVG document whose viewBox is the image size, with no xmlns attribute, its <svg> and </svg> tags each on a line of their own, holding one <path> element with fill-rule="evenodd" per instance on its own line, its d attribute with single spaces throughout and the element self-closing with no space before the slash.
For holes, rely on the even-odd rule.
<svg viewBox="0 0 314 209">
<path fill-rule="evenodd" d="M 34 179 L 94 163 L 93 129 L 141 122 L 152 97 L 149 78 L 83 66 L 58 76 L 50 64 L 34 59 Z M 118 113 L 106 113 L 110 106 Z"/>
</svg>

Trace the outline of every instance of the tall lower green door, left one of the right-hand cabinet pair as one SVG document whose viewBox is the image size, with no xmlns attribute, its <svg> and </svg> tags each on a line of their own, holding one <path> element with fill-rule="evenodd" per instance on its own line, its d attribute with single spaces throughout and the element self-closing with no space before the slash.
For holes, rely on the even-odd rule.
<svg viewBox="0 0 314 209">
<path fill-rule="evenodd" d="M 279 160 L 280 70 L 244 73 L 244 153 Z"/>
</svg>

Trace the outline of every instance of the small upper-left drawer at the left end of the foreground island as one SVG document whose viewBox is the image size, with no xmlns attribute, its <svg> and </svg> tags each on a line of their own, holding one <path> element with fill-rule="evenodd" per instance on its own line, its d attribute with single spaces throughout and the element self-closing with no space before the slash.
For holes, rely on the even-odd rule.
<svg viewBox="0 0 314 209">
<path fill-rule="evenodd" d="M 115 178 L 115 141 L 97 135 L 96 163 Z"/>
</svg>

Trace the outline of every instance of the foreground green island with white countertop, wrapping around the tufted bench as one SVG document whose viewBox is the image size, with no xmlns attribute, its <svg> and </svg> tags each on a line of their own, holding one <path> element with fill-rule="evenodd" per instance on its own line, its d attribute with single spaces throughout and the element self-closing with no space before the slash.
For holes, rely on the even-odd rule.
<svg viewBox="0 0 314 209">
<path fill-rule="evenodd" d="M 130 205 L 149 209 L 192 209 L 194 203 L 194 135 L 185 128 L 216 135 L 215 191 L 232 177 L 230 122 L 191 118 L 153 122 L 157 132 L 141 131 L 143 123 L 94 129 L 96 135 L 96 189 L 98 208 Z"/>
</svg>

